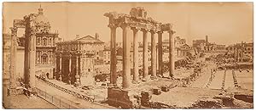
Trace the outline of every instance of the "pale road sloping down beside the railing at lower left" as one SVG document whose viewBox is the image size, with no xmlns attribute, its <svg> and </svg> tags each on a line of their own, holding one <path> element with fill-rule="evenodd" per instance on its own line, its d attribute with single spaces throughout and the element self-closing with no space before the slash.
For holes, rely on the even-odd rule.
<svg viewBox="0 0 256 111">
<path fill-rule="evenodd" d="M 49 86 L 43 80 L 36 79 L 36 83 L 37 83 L 36 86 L 38 87 L 38 89 L 49 93 L 51 96 L 61 98 L 61 100 L 65 101 L 65 103 L 72 103 L 73 105 L 75 105 L 76 108 L 113 108 L 110 106 L 104 106 L 101 104 L 86 102 L 81 98 L 73 97 L 72 95 L 67 94 L 66 92 L 61 92 L 55 87 Z"/>
</svg>

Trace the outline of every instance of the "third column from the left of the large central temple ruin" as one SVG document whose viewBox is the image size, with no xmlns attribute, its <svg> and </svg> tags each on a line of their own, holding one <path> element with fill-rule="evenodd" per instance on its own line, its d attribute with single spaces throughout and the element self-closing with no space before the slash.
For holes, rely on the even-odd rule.
<svg viewBox="0 0 256 111">
<path fill-rule="evenodd" d="M 138 72 L 138 41 L 137 41 L 137 31 L 138 29 L 131 28 L 133 31 L 133 83 L 137 83 L 139 80 Z"/>
</svg>

